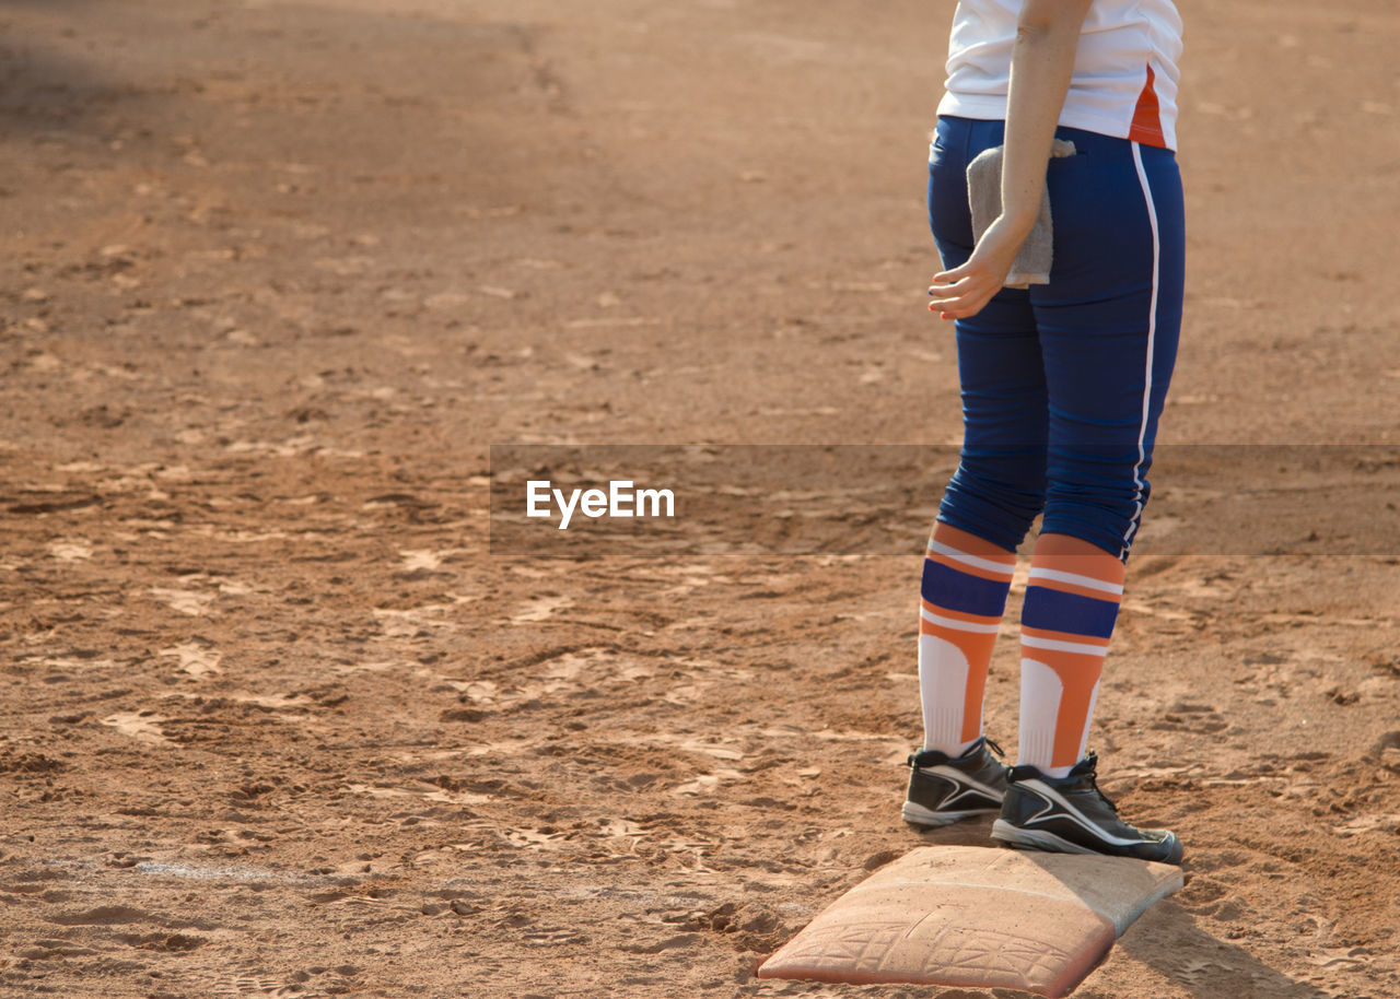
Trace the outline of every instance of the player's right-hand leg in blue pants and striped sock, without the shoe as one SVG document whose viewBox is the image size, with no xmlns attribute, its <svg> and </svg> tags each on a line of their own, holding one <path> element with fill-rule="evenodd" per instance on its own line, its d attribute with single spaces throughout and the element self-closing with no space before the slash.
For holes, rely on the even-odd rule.
<svg viewBox="0 0 1400 999">
<path fill-rule="evenodd" d="M 1085 756 L 1123 562 L 1149 493 L 1184 270 L 1172 154 L 1075 141 L 1081 162 L 1049 175 L 1051 283 L 1030 297 L 1049 439 L 1044 520 L 1022 610 L 1019 763 L 1051 777 Z"/>
</svg>

